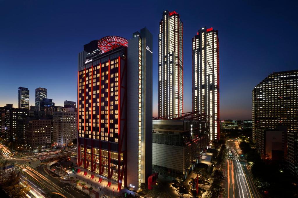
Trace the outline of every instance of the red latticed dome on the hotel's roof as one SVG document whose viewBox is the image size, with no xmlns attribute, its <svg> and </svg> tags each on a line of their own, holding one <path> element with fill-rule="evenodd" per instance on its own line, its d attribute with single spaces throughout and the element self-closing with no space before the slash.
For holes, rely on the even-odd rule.
<svg viewBox="0 0 298 198">
<path fill-rule="evenodd" d="M 127 40 L 120 36 L 105 36 L 98 41 L 97 45 L 105 53 L 121 45 L 127 47 Z"/>
</svg>

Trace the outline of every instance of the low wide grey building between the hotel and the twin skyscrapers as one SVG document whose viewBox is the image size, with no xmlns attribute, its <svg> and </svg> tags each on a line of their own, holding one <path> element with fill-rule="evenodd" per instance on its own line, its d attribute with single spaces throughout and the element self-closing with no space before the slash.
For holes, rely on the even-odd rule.
<svg viewBox="0 0 298 198">
<path fill-rule="evenodd" d="M 159 178 L 186 179 L 209 144 L 207 122 L 153 120 L 153 170 Z"/>
</svg>

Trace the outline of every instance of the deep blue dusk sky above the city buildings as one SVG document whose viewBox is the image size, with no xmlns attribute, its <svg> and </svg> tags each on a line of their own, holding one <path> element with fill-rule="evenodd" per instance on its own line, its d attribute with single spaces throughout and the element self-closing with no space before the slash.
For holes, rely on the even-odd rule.
<svg viewBox="0 0 298 198">
<path fill-rule="evenodd" d="M 297 1 L 296 1 L 297 2 Z M 221 119 L 251 119 L 252 89 L 273 71 L 298 69 L 294 1 L 1 1 L 0 106 L 17 107 L 18 87 L 47 88 L 55 105 L 77 101 L 77 55 L 104 36 L 153 34 L 153 116 L 157 36 L 164 10 L 184 23 L 184 112 L 192 110 L 191 39 L 218 30 Z"/>
</svg>

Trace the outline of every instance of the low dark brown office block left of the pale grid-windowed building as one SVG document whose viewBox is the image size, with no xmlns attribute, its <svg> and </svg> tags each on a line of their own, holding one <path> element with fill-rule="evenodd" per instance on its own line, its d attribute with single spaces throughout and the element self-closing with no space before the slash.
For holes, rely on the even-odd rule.
<svg viewBox="0 0 298 198">
<path fill-rule="evenodd" d="M 25 145 L 33 150 L 51 146 L 51 119 L 25 120 Z"/>
</svg>

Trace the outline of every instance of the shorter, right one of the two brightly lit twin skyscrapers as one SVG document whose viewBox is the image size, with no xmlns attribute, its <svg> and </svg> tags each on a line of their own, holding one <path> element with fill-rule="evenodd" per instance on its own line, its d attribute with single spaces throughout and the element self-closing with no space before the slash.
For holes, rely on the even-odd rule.
<svg viewBox="0 0 298 198">
<path fill-rule="evenodd" d="M 209 115 L 210 142 L 219 139 L 218 30 L 202 27 L 193 38 L 193 111 Z"/>
</svg>

